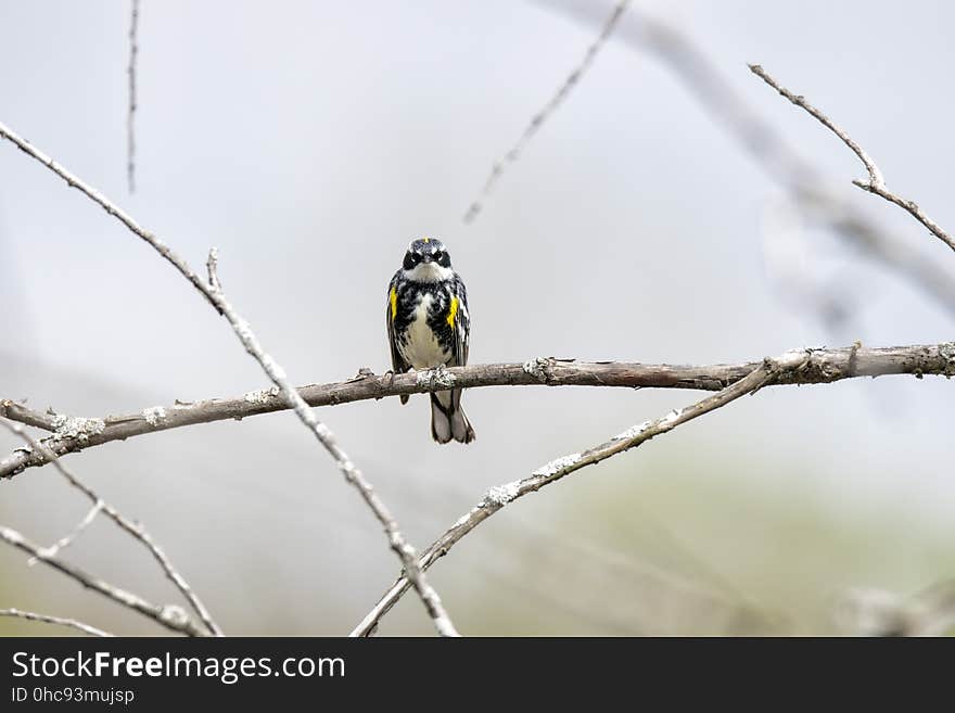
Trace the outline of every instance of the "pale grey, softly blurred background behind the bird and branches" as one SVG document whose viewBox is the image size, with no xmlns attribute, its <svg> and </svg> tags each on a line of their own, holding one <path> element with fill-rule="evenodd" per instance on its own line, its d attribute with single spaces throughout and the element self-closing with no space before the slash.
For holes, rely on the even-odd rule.
<svg viewBox="0 0 955 713">
<path fill-rule="evenodd" d="M 685 34 L 827 188 L 955 283 L 951 251 L 854 188 L 856 157 L 746 66 L 804 93 L 952 229 L 948 3 L 637 2 L 466 225 L 493 162 L 611 8 L 143 0 L 130 195 L 129 4 L 0 0 L 0 120 L 194 266 L 218 246 L 228 296 L 301 384 L 390 367 L 386 285 L 422 234 L 445 241 L 467 282 L 475 364 L 737 362 L 952 339 L 948 306 L 803 220 L 665 58 L 634 41 L 647 15 Z M 179 275 L 9 143 L 0 269 L 0 397 L 105 416 L 268 385 Z M 951 390 L 932 377 L 765 390 L 512 504 L 432 582 L 472 635 L 862 631 L 839 614 L 851 591 L 905 599 L 955 576 Z M 424 548 L 488 487 L 699 397 L 476 390 L 468 447 L 432 443 L 425 397 L 318 413 Z M 16 445 L 0 433 L 3 454 Z M 68 462 L 145 523 L 227 633 L 346 634 L 397 573 L 370 512 L 288 412 Z M 0 482 L 0 523 L 43 544 L 87 509 L 50 468 Z M 64 558 L 178 601 L 104 518 Z M 0 607 L 165 633 L 9 547 Z M 3 635 L 63 633 L 0 619 Z M 408 596 L 380 633 L 433 627 Z"/>
</svg>

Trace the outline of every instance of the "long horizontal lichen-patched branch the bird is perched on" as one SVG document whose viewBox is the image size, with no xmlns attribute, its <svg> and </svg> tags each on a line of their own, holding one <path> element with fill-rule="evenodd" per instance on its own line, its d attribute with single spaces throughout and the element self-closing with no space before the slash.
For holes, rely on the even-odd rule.
<svg viewBox="0 0 955 713">
<path fill-rule="evenodd" d="M 889 374 L 955 374 L 955 343 L 869 348 L 850 346 L 810 351 L 811 368 L 776 383 L 822 384 L 860 377 Z M 481 386 L 615 386 L 624 389 L 692 389 L 718 391 L 739 381 L 760 365 L 680 366 L 623 361 L 575 361 L 537 358 L 523 364 L 450 367 L 442 371 L 375 375 L 362 369 L 348 381 L 302 386 L 298 394 L 309 406 L 336 406 L 352 402 Z M 43 443 L 56 454 L 85 450 L 147 433 L 288 409 L 277 389 L 253 391 L 233 398 L 176 402 L 136 413 L 104 418 L 49 417 L 12 400 L 0 399 L 0 416 L 22 423 L 46 422 L 53 435 Z M 53 425 L 53 421 L 59 426 Z M 0 478 L 12 478 L 26 468 L 42 466 L 47 457 L 36 449 L 18 449 L 0 460 Z"/>
</svg>

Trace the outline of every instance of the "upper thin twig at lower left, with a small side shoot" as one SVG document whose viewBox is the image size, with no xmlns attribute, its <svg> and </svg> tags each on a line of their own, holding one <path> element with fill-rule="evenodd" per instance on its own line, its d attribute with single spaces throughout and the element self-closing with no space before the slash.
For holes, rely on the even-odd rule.
<svg viewBox="0 0 955 713">
<path fill-rule="evenodd" d="M 8 423 L 3 419 L 0 419 L 0 424 L 22 437 L 26 443 L 28 443 L 34 453 L 42 454 L 43 457 L 48 459 L 48 461 L 53 463 L 53 468 L 60 471 L 60 474 L 63 475 L 63 478 L 65 478 L 69 482 L 69 484 L 73 485 L 73 487 L 86 495 L 92 501 L 93 509 L 90 510 L 90 514 L 87 515 L 87 519 L 89 521 L 92 521 L 92 518 L 96 517 L 97 512 L 102 510 L 120 529 L 125 530 L 127 533 L 132 535 L 140 543 L 142 543 L 143 546 L 149 549 L 155 560 L 160 563 L 160 566 L 163 568 L 163 572 L 166 573 L 166 576 L 173 582 L 174 585 L 176 585 L 176 588 L 179 589 L 183 597 L 186 597 L 186 600 L 189 602 L 195 613 L 199 614 L 199 617 L 202 619 L 203 623 L 208 627 L 209 633 L 214 636 L 222 636 L 222 629 L 219 628 L 219 625 L 216 624 L 215 620 L 213 620 L 212 614 L 209 613 L 208 609 L 206 609 L 202 600 L 199 598 L 199 595 L 196 595 L 195 591 L 192 590 L 192 587 L 189 586 L 189 583 L 186 581 L 186 578 L 181 574 L 179 574 L 178 570 L 176 570 L 175 566 L 173 566 L 173 562 L 152 538 L 152 536 L 147 532 L 142 523 L 129 520 L 116 508 L 103 500 L 96 493 L 96 491 L 93 491 L 86 483 L 79 480 L 79 478 L 77 478 L 76 474 L 74 474 L 74 472 L 69 470 L 65 463 L 61 462 L 56 454 L 50 450 L 50 448 L 48 448 L 43 443 L 36 441 L 26 431 L 24 431 L 22 426 L 14 423 Z M 80 523 L 80 527 L 78 527 L 77 531 L 74 531 L 73 536 L 78 534 L 78 531 L 80 531 L 84 526 L 85 525 Z M 61 549 L 63 546 L 62 542 L 63 540 L 56 543 L 56 545 L 54 545 L 52 548 L 43 550 L 44 555 L 47 557 L 56 555 L 58 550 Z M 35 561 L 36 560 L 29 560 L 28 564 L 33 564 Z"/>
</svg>

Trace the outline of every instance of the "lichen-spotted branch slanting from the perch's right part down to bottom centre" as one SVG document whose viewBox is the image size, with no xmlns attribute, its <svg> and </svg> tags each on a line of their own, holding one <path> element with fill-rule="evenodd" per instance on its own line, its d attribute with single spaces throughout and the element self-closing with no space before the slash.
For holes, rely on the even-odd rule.
<svg viewBox="0 0 955 713">
<path fill-rule="evenodd" d="M 582 468 L 594 466 L 625 450 L 636 448 L 650 438 L 672 431 L 682 423 L 691 421 L 722 406 L 726 406 L 740 396 L 753 394 L 771 383 L 786 381 L 800 371 L 810 369 L 811 356 L 811 352 L 797 349 L 787 352 L 776 359 L 765 359 L 763 364 L 759 365 L 743 379 L 712 396 L 697 402 L 692 406 L 675 409 L 666 416 L 652 421 L 645 421 L 614 436 L 610 441 L 583 453 L 575 453 L 552 460 L 538 468 L 529 478 L 492 487 L 470 512 L 461 517 L 424 551 L 419 560 L 420 566 L 424 570 L 430 568 L 435 561 L 447 555 L 451 547 L 462 537 L 509 502 L 513 502 L 529 493 L 539 491 L 545 485 L 549 485 Z M 353 629 L 352 636 L 369 636 L 372 634 L 381 617 L 398 602 L 405 591 L 407 591 L 408 586 L 405 577 L 398 577 L 397 582 L 384 594 L 358 626 Z"/>
</svg>

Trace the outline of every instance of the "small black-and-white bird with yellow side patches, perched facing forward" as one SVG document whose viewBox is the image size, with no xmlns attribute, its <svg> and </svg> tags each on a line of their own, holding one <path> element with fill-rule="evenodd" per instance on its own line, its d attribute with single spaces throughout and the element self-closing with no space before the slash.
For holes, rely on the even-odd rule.
<svg viewBox="0 0 955 713">
<path fill-rule="evenodd" d="M 468 293 L 440 240 L 421 238 L 408 246 L 389 287 L 386 316 L 395 373 L 468 364 Z M 408 396 L 402 396 L 402 403 L 407 402 Z M 431 394 L 431 435 L 438 443 L 474 440 L 461 409 L 460 389 Z"/>
</svg>

